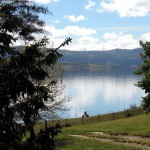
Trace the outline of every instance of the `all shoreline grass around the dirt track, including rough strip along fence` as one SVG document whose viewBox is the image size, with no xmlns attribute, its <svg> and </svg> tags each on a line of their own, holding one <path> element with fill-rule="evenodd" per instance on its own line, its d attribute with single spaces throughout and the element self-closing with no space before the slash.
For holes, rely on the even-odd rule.
<svg viewBox="0 0 150 150">
<path fill-rule="evenodd" d="M 139 110 L 137 111 L 139 112 Z M 129 112 L 128 112 L 129 113 Z M 134 110 L 135 113 L 135 110 Z M 127 117 L 127 112 L 115 113 L 115 117 L 112 118 L 112 114 L 103 115 L 101 120 L 98 120 L 98 116 L 84 118 L 84 124 L 82 124 L 81 118 L 67 120 L 67 126 L 63 127 L 62 133 L 56 138 L 56 149 L 57 150 L 141 150 L 142 148 L 131 147 L 127 145 L 121 145 L 112 142 L 101 142 L 92 139 L 82 139 L 76 137 L 70 137 L 69 134 L 73 135 L 86 135 L 92 137 L 94 135 L 89 132 L 103 132 L 112 135 L 111 138 L 117 142 L 132 142 L 126 141 L 123 138 L 116 138 L 115 135 L 132 135 L 150 137 L 150 114 L 135 115 L 131 113 L 131 117 Z M 123 117 L 121 117 L 123 116 Z M 107 118 L 107 119 L 106 119 Z M 119 119 L 118 119 L 119 118 Z M 61 121 L 65 126 L 66 120 Z M 36 126 L 36 131 L 39 127 L 44 127 L 43 124 Z M 96 138 L 104 138 L 97 136 Z M 105 138 L 109 138 L 105 136 Z M 136 141 L 135 141 L 136 142 Z M 140 144 L 147 144 L 145 141 L 139 141 Z M 138 143 L 138 142 L 137 142 Z"/>
</svg>

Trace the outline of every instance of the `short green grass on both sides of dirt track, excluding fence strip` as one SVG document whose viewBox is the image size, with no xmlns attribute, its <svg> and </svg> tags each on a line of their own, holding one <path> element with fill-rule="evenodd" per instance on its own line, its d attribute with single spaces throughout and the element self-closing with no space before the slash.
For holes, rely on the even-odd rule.
<svg viewBox="0 0 150 150">
<path fill-rule="evenodd" d="M 83 134 L 89 132 L 104 132 L 109 134 L 125 134 L 150 136 L 150 115 L 137 115 L 129 118 L 111 120 L 105 122 L 89 123 L 63 128 L 62 134 L 57 138 L 59 150 L 136 150 L 137 148 L 103 143 L 89 139 L 78 139 L 68 136 L 69 134 Z M 139 148 L 140 149 L 140 148 Z"/>
</svg>

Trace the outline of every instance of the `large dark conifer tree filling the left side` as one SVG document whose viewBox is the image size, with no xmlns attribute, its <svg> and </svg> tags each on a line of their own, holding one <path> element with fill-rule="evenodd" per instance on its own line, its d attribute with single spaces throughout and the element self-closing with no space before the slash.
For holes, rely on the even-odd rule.
<svg viewBox="0 0 150 150">
<path fill-rule="evenodd" d="M 44 21 L 39 13 L 50 14 L 47 8 L 29 1 L 0 1 L 0 149 L 53 149 L 54 136 L 59 125 L 34 133 L 39 111 L 48 110 L 46 102 L 53 101 L 49 87 L 43 83 L 50 76 L 48 67 L 62 56 L 57 50 L 71 42 L 67 38 L 56 49 L 45 49 L 46 37 L 36 40 L 43 33 Z M 23 41 L 18 50 L 14 43 Z M 51 80 L 51 85 L 55 84 Z M 19 116 L 24 124 L 15 121 Z M 22 142 L 29 132 L 29 138 Z M 53 133 L 53 134 L 52 134 Z M 42 142 L 41 142 L 42 141 Z M 44 143 L 45 142 L 45 143 Z M 48 145 L 42 148 L 42 145 Z"/>
</svg>

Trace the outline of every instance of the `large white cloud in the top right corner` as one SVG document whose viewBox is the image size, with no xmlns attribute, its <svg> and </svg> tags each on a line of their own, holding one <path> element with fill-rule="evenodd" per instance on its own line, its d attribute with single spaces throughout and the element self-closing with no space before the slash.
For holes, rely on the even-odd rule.
<svg viewBox="0 0 150 150">
<path fill-rule="evenodd" d="M 150 0 L 104 0 L 97 11 L 116 11 L 120 17 L 142 17 L 150 13 Z"/>
</svg>

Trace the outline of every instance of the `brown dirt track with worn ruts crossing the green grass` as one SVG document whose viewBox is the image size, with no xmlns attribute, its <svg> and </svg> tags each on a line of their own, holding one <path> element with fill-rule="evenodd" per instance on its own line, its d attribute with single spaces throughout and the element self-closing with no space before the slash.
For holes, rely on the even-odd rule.
<svg viewBox="0 0 150 150">
<path fill-rule="evenodd" d="M 116 144 L 129 145 L 142 149 L 150 150 L 150 138 L 144 138 L 140 136 L 129 136 L 129 135 L 110 135 L 104 134 L 103 132 L 90 132 L 87 135 L 70 135 L 73 137 L 98 140 L 101 142 L 109 142 Z"/>
</svg>

